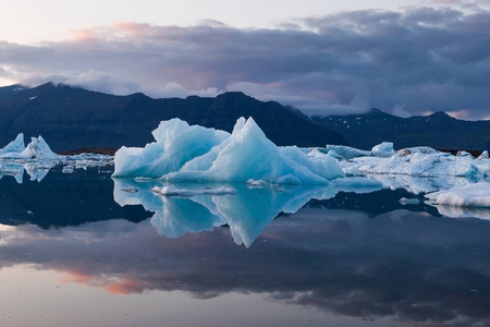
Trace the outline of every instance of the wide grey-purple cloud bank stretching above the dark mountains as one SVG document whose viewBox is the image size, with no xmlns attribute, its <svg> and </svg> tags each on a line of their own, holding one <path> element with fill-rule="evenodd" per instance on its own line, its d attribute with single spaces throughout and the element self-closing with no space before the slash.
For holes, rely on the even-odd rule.
<svg viewBox="0 0 490 327">
<path fill-rule="evenodd" d="M 38 47 L 0 44 L 1 73 L 150 96 L 243 89 L 308 113 L 369 107 L 490 117 L 490 12 L 352 11 L 277 29 L 124 23 Z"/>
</svg>

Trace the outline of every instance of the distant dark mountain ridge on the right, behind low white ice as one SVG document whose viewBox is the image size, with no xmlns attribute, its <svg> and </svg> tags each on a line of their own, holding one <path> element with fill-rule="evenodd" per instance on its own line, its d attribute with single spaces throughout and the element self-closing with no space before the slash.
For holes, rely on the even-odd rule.
<svg viewBox="0 0 490 327">
<path fill-rule="evenodd" d="M 490 121 L 464 121 L 443 111 L 401 118 L 379 109 L 360 114 L 311 117 L 324 128 L 342 133 L 353 147 L 370 149 L 383 141 L 396 149 L 430 146 L 438 149 L 490 149 Z"/>
</svg>

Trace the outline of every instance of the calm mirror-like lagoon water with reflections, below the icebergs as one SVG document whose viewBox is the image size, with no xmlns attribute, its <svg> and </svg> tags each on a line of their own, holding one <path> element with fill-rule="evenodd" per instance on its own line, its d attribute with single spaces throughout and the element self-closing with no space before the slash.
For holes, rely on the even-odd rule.
<svg viewBox="0 0 490 327">
<path fill-rule="evenodd" d="M 161 197 L 110 173 L 0 179 L 0 326 L 490 325 L 489 220 L 403 190 Z"/>
</svg>

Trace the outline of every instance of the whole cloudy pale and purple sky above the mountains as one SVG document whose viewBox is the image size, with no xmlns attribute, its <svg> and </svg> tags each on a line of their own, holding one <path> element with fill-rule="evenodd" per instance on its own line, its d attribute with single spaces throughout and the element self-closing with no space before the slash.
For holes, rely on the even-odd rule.
<svg viewBox="0 0 490 327">
<path fill-rule="evenodd" d="M 154 98 L 241 90 L 307 114 L 490 119 L 490 0 L 17 0 L 0 86 Z"/>
</svg>

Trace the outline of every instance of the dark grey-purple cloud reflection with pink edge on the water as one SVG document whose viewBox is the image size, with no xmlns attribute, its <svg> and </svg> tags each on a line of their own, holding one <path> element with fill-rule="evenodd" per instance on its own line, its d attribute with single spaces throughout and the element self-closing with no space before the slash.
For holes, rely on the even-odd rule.
<svg viewBox="0 0 490 327">
<path fill-rule="evenodd" d="M 20 226 L 0 232 L 10 238 L 0 246 L 0 266 L 34 264 L 65 271 L 64 282 L 118 294 L 180 290 L 207 299 L 252 292 L 354 317 L 490 323 L 485 220 L 405 210 L 368 219 L 306 208 L 278 217 L 249 249 L 230 246 L 225 228 L 179 239 L 123 220 L 86 223 L 74 230 L 76 238 L 72 230 Z"/>
</svg>

